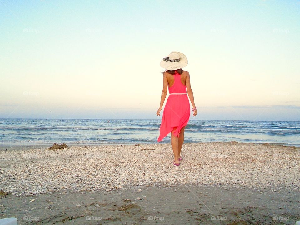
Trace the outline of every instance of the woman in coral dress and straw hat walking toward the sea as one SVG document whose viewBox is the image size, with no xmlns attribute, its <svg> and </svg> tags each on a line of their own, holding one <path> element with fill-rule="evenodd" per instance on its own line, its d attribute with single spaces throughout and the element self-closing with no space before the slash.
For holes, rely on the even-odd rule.
<svg viewBox="0 0 300 225">
<path fill-rule="evenodd" d="M 160 65 L 166 71 L 163 72 L 163 92 L 156 115 L 160 116 L 159 113 L 167 96 L 167 86 L 170 95 L 163 110 L 162 123 L 159 128 L 160 135 L 157 141 L 162 141 L 171 132 L 171 145 L 174 153 L 173 164 L 179 166 L 179 161 L 182 160 L 180 152 L 184 140 L 184 129 L 190 118 L 190 103 L 187 94 L 193 106 L 193 116 L 197 115 L 197 109 L 190 84 L 190 75 L 187 71 L 182 70 L 187 65 L 187 57 L 180 52 L 171 52 L 163 58 Z"/>
</svg>

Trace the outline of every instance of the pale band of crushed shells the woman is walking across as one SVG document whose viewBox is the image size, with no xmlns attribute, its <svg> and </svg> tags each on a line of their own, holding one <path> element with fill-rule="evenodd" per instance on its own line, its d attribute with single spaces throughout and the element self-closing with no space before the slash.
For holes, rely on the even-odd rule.
<svg viewBox="0 0 300 225">
<path fill-rule="evenodd" d="M 1 151 L 0 190 L 32 195 L 178 183 L 299 189 L 299 149 L 268 143 L 184 143 L 179 167 L 173 165 L 171 144 Z"/>
</svg>

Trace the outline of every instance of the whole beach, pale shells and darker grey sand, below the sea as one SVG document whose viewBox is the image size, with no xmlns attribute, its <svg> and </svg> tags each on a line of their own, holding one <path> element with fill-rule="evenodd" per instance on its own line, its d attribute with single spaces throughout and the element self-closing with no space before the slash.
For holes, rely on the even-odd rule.
<svg viewBox="0 0 300 225">
<path fill-rule="evenodd" d="M 68 144 L 68 143 L 67 143 Z M 50 145 L 49 145 L 50 146 Z M 0 218 L 19 224 L 295 224 L 299 147 L 268 143 L 0 151 Z"/>
</svg>

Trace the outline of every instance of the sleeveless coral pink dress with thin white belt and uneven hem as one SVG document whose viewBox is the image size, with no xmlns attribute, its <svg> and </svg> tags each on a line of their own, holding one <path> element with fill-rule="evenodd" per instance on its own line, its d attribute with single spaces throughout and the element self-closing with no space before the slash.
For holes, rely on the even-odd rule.
<svg viewBox="0 0 300 225">
<path fill-rule="evenodd" d="M 187 125 L 190 118 L 190 102 L 187 97 L 187 87 L 181 83 L 181 75 L 176 71 L 174 76 L 174 84 L 169 89 L 169 97 L 165 108 L 163 109 L 163 118 L 160 125 L 160 135 L 158 142 L 162 141 L 174 127 L 177 127 L 174 135 L 179 137 L 181 128 Z M 177 93 L 177 94 L 172 94 Z M 185 93 L 185 94 L 178 94 Z"/>
</svg>

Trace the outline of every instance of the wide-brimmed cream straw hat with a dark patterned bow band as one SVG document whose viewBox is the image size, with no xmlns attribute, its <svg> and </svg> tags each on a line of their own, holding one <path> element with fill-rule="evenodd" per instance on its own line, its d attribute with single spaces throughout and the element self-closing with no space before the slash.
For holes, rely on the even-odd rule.
<svg viewBox="0 0 300 225">
<path fill-rule="evenodd" d="M 170 55 L 163 58 L 160 66 L 167 70 L 177 70 L 187 65 L 187 57 L 180 52 L 171 52 Z"/>
</svg>

